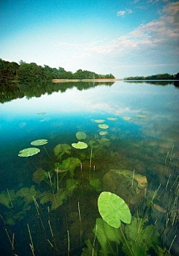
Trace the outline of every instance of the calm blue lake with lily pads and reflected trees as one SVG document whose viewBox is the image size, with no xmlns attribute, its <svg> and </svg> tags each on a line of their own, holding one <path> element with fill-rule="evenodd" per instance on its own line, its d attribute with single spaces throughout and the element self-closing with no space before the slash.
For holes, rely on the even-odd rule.
<svg viewBox="0 0 179 256">
<path fill-rule="evenodd" d="M 174 83 L 0 92 L 0 255 L 179 255 Z"/>
</svg>

